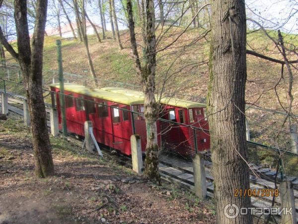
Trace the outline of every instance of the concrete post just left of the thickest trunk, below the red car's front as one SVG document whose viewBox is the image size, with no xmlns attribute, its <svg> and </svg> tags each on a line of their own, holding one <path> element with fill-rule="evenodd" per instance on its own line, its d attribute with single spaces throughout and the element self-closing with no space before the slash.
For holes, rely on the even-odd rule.
<svg viewBox="0 0 298 224">
<path fill-rule="evenodd" d="M 193 159 L 195 193 L 200 199 L 207 196 L 206 173 L 204 167 L 204 155 L 198 152 Z"/>
</svg>

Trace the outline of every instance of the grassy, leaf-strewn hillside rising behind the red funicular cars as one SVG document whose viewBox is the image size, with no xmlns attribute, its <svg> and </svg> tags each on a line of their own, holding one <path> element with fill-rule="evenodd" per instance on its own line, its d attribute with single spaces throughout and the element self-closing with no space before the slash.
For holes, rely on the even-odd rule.
<svg viewBox="0 0 298 224">
<path fill-rule="evenodd" d="M 179 35 L 181 29 L 176 27 L 162 36 L 158 49 L 162 49 L 169 43 L 172 43 Z M 159 32 L 159 30 L 158 30 Z M 156 36 L 160 38 L 159 33 Z M 201 32 L 202 34 L 202 32 Z M 135 72 L 135 65 L 130 48 L 129 33 L 122 31 L 121 39 L 124 46 L 123 50 L 118 48 L 117 42 L 112 40 L 111 34 L 108 38 L 97 43 L 94 36 L 89 36 L 89 49 L 94 64 L 96 76 L 100 79 L 99 87 L 120 85 L 116 81 L 140 85 L 139 77 Z M 156 84 L 157 91 L 165 82 L 165 93 L 174 94 L 177 98 L 186 100 L 202 101 L 207 97 L 208 86 L 208 58 L 209 58 L 209 36 L 206 39 L 200 39 L 200 31 L 189 29 L 186 33 L 164 51 L 157 54 Z M 52 83 L 55 77 L 58 82 L 57 72 L 57 50 L 55 40 L 59 37 L 46 37 L 44 46 L 44 78 L 45 83 Z M 138 42 L 142 44 L 140 34 L 137 35 Z M 298 44 L 297 36 L 287 35 L 287 41 Z M 196 41 L 194 41 L 196 40 Z M 280 54 L 276 53 L 274 43 L 270 42 L 260 32 L 252 32 L 247 35 L 247 48 L 254 49 L 259 53 L 282 59 Z M 62 55 L 64 72 L 79 74 L 82 77 L 65 75 L 65 79 L 70 82 L 93 86 L 89 78 L 89 68 L 86 59 L 83 43 L 74 40 L 62 41 Z M 160 44 L 161 43 L 161 44 Z M 139 52 L 142 52 L 139 47 Z M 293 58 L 294 59 L 294 58 Z M 12 62 L 9 61 L 9 62 Z M 52 70 L 49 72 L 49 70 Z M 297 72 L 294 73 L 297 75 Z M 276 88 L 279 99 L 276 95 L 274 86 L 281 77 L 281 66 L 279 64 L 266 61 L 251 55 L 247 55 L 247 84 L 246 84 L 246 102 L 255 104 L 258 107 L 280 110 L 281 105 L 287 109 L 287 91 L 289 76 L 284 72 L 284 79 L 281 80 Z M 107 82 L 110 80 L 114 82 Z M 123 85 L 122 85 L 123 86 Z M 140 89 L 136 86 L 123 86 L 132 89 Z M 293 84 L 293 112 L 298 113 L 298 82 L 294 77 Z M 199 97 L 194 97 L 199 96 Z M 289 145 L 289 126 L 288 123 L 282 128 L 284 115 L 270 113 L 256 109 L 249 109 L 246 112 L 251 126 L 252 139 L 270 145 L 280 145 L 286 147 Z M 280 139 L 271 140 L 282 128 Z M 286 140 L 285 140 L 286 139 Z"/>
</svg>

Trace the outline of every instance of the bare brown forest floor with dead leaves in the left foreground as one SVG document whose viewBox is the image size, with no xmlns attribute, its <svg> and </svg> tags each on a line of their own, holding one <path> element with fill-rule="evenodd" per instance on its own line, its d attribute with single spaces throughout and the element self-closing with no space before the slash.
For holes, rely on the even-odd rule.
<svg viewBox="0 0 298 224">
<path fill-rule="evenodd" d="M 55 176 L 37 178 L 30 129 L 17 115 L 0 120 L 0 224 L 216 222 L 213 200 L 154 185 L 62 138 L 51 145 Z"/>
</svg>

